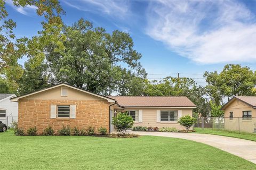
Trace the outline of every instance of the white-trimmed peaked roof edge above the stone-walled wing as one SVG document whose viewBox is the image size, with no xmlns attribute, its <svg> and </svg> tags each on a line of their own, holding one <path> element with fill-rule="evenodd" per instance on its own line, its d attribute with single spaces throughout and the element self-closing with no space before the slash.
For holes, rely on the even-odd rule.
<svg viewBox="0 0 256 170">
<path fill-rule="evenodd" d="M 31 93 L 26 94 L 26 95 L 21 95 L 21 96 L 18 96 L 18 97 L 14 97 L 11 100 L 12 101 L 18 101 L 21 98 L 29 97 L 29 96 L 36 95 L 36 94 L 44 92 L 44 91 L 48 91 L 48 90 L 51 90 L 51 89 L 54 89 L 54 88 L 58 88 L 58 87 L 63 87 L 63 86 L 66 86 L 66 87 L 71 88 L 71 89 L 75 89 L 77 91 L 85 92 L 86 94 L 90 94 L 90 95 L 95 96 L 95 97 L 106 99 L 109 102 L 115 102 L 114 99 L 111 99 L 109 97 L 102 96 L 102 95 L 99 95 L 99 94 L 95 94 L 94 92 L 87 91 L 87 90 L 84 90 L 82 88 L 78 88 L 78 87 L 75 87 L 75 86 L 71 86 L 71 85 L 66 84 L 66 83 L 60 83 L 60 84 L 57 84 L 57 85 L 49 87 L 49 88 L 45 88 L 45 89 L 42 89 L 42 90 L 34 91 L 34 92 L 31 92 Z"/>
</svg>

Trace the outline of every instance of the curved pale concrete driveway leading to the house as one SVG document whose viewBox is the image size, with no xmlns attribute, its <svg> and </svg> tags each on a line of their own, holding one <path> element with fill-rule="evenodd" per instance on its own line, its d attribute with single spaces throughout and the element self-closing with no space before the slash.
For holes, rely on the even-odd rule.
<svg viewBox="0 0 256 170">
<path fill-rule="evenodd" d="M 219 148 L 221 150 L 227 151 L 230 154 L 239 156 L 241 158 L 244 158 L 256 164 L 256 142 L 250 141 L 250 140 L 231 138 L 231 137 L 222 137 L 220 135 L 212 135 L 212 134 L 198 134 L 198 133 L 134 132 L 134 131 L 129 133 L 193 140 L 196 142 L 205 143 L 206 145 L 210 145 L 215 148 Z"/>
</svg>

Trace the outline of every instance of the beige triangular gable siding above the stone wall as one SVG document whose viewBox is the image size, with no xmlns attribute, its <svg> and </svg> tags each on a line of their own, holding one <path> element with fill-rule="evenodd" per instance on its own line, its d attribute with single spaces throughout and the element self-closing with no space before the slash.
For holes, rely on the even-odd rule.
<svg viewBox="0 0 256 170">
<path fill-rule="evenodd" d="M 66 87 L 66 86 L 63 86 Z M 39 92 L 38 94 L 27 96 L 22 99 L 27 100 L 105 100 L 103 98 L 87 94 L 86 92 L 78 91 L 68 87 L 68 96 L 61 96 L 61 87 L 56 87 L 46 91 Z"/>
</svg>

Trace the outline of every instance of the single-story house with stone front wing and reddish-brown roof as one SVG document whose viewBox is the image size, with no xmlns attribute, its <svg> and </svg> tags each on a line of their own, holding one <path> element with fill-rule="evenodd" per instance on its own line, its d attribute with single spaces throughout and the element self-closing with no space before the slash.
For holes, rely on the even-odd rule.
<svg viewBox="0 0 256 170">
<path fill-rule="evenodd" d="M 182 129 L 177 123 L 182 115 L 192 115 L 196 108 L 187 97 L 123 97 L 102 96 L 94 92 L 60 83 L 50 88 L 14 97 L 19 103 L 18 125 L 25 131 L 36 126 L 41 133 L 48 125 L 58 130 L 101 126 L 114 131 L 112 118 L 127 111 L 135 126 L 163 126 Z"/>
</svg>

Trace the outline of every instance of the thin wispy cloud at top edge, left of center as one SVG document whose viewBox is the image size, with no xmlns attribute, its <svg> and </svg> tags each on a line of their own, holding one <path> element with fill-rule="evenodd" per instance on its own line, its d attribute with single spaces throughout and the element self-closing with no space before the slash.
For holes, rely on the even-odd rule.
<svg viewBox="0 0 256 170">
<path fill-rule="evenodd" d="M 107 14 L 117 18 L 124 18 L 130 14 L 130 3 L 128 1 L 116 0 L 81 0 L 81 1 L 65 1 L 71 7 L 81 11 L 89 11 L 92 13 Z"/>
</svg>

